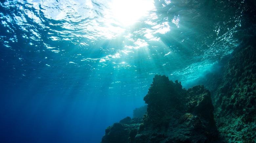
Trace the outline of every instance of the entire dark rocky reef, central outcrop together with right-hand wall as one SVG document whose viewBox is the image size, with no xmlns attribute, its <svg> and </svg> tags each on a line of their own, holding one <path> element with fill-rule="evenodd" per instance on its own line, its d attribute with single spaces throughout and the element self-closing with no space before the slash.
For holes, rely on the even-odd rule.
<svg viewBox="0 0 256 143">
<path fill-rule="evenodd" d="M 233 53 L 187 90 L 155 75 L 143 117 L 109 126 L 102 143 L 256 142 L 256 46 Z"/>
</svg>

